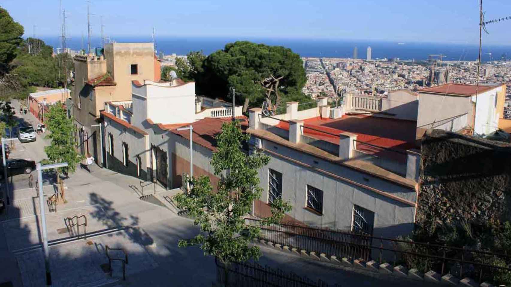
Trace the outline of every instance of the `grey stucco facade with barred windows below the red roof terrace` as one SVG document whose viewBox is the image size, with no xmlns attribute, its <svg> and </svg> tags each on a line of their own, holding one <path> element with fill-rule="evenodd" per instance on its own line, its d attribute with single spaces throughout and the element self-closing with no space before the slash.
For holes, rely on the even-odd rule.
<svg viewBox="0 0 511 287">
<path fill-rule="evenodd" d="M 296 161 L 316 166 L 361 184 L 415 201 L 415 191 L 391 182 L 381 180 L 339 165 L 333 166 L 326 161 L 303 152 L 263 140 L 263 147 L 283 154 Z M 275 149 L 274 147 L 277 147 Z M 353 204 L 357 204 L 375 213 L 374 235 L 394 238 L 410 234 L 413 230 L 415 207 L 379 195 L 373 191 L 349 184 L 346 181 L 330 177 L 321 172 L 297 165 L 286 159 L 269 154 L 270 163 L 259 170 L 263 195 L 261 200 L 268 202 L 268 169 L 282 173 L 283 199 L 291 201 L 293 209 L 289 214 L 294 219 L 310 226 L 351 230 Z M 317 163 L 314 163 L 316 161 Z M 367 180 L 364 180 L 366 178 Z M 307 185 L 323 191 L 323 214 L 317 215 L 306 210 Z"/>
</svg>

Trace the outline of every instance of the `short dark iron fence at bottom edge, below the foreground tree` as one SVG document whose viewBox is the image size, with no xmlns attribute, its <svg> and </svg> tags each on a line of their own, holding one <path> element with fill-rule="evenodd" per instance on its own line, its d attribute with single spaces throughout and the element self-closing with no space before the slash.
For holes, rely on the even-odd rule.
<svg viewBox="0 0 511 287">
<path fill-rule="evenodd" d="M 263 267 L 257 263 L 231 263 L 225 266 L 218 259 L 217 283 L 222 286 L 242 287 L 329 287 L 330 285 L 321 279 L 314 281 L 306 276 L 298 276 L 295 273 L 287 273 L 280 269 Z M 333 287 L 339 287 L 338 284 Z"/>
</svg>

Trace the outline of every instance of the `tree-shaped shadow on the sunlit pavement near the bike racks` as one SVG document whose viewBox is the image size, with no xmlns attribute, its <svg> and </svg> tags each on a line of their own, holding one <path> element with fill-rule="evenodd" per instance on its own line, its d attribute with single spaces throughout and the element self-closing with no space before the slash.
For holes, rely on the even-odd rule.
<svg viewBox="0 0 511 287">
<path fill-rule="evenodd" d="M 90 204 L 94 206 L 94 211 L 90 213 L 92 218 L 97 219 L 107 228 L 132 227 L 125 230 L 130 241 L 143 246 L 153 244 L 153 239 L 149 234 L 138 228 L 138 216 L 129 215 L 129 218 L 124 217 L 112 207 L 113 201 L 107 200 L 97 193 L 93 192 L 89 197 Z"/>
</svg>

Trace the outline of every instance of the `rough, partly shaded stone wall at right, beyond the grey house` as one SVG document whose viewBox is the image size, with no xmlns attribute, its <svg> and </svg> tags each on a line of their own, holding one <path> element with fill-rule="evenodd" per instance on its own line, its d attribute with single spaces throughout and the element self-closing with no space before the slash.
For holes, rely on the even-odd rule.
<svg viewBox="0 0 511 287">
<path fill-rule="evenodd" d="M 429 130 L 423 138 L 416 224 L 428 232 L 466 220 L 509 220 L 511 144 Z"/>
</svg>

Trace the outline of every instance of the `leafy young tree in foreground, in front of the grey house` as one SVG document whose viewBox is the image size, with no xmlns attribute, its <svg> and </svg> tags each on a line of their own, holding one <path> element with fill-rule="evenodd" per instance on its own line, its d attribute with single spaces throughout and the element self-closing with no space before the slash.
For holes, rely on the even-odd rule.
<svg viewBox="0 0 511 287">
<path fill-rule="evenodd" d="M 247 155 L 242 150 L 248 135 L 243 134 L 237 121 L 224 123 L 216 139 L 218 149 L 211 165 L 215 175 L 221 177 L 217 191 L 213 191 L 208 177 L 201 176 L 191 180 L 189 193 L 175 196 L 177 205 L 188 210 L 201 230 L 195 238 L 179 241 L 179 246 L 200 246 L 205 255 L 216 256 L 224 264 L 259 259 L 259 247 L 250 247 L 249 242 L 258 236 L 260 228 L 246 225 L 244 217 L 261 196 L 258 170 L 268 164 L 269 157 L 261 152 Z M 265 222 L 280 222 L 290 210 L 288 202 L 275 200 L 272 216 Z"/>
</svg>

